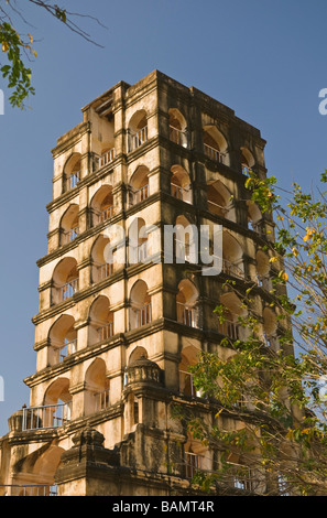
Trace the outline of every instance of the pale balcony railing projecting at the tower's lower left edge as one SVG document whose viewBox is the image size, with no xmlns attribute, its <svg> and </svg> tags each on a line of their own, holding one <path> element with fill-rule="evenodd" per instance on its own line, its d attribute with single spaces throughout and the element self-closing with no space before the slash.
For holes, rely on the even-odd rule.
<svg viewBox="0 0 327 518">
<path fill-rule="evenodd" d="M 22 430 L 57 428 L 70 421 L 72 402 L 23 408 Z"/>
</svg>

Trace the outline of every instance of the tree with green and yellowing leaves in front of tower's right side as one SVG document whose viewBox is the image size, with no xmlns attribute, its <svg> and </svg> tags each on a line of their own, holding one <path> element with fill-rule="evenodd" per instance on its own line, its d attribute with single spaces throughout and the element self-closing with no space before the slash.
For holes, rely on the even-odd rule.
<svg viewBox="0 0 327 518">
<path fill-rule="evenodd" d="M 326 182 L 327 172 L 314 192 L 293 184 L 282 194 L 274 177 L 250 172 L 246 182 L 262 213 L 276 216 L 275 239 L 261 247 L 270 258 L 270 289 L 248 282 L 240 290 L 227 281 L 242 301 L 242 339 L 225 337 L 219 354 L 204 353 L 190 368 L 195 388 L 215 409 L 211 422 L 181 414 L 216 452 L 217 470 L 194 477 L 203 489 L 327 495 Z M 268 336 L 258 296 L 275 317 Z M 225 322 L 225 307 L 215 312 Z"/>
</svg>

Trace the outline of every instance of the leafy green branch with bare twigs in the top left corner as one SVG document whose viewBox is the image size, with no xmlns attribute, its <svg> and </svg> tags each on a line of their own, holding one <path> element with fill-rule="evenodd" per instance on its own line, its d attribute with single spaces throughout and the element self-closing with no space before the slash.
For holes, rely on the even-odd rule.
<svg viewBox="0 0 327 518">
<path fill-rule="evenodd" d="M 42 0 L 28 0 L 45 10 L 46 13 L 54 17 L 61 23 L 64 23 L 70 31 L 77 33 L 85 40 L 100 46 L 94 42 L 90 35 L 74 22 L 76 17 L 85 17 L 99 21 L 90 15 L 73 13 L 57 4 L 52 4 Z M 3 3 L 3 2 L 1 2 Z M 6 8 L 0 3 L 0 43 L 2 54 L 7 63 L 0 67 L 2 77 L 7 80 L 8 88 L 12 90 L 9 101 L 12 107 L 25 108 L 25 101 L 30 95 L 35 94 L 32 85 L 32 68 L 30 63 L 37 56 L 34 48 L 33 36 L 30 32 L 23 34 L 15 25 L 18 21 L 24 24 L 29 22 L 24 19 L 22 12 L 17 7 L 14 0 L 6 0 Z M 14 20 L 15 19 L 15 20 Z M 26 64 L 28 63 L 28 64 Z"/>
</svg>

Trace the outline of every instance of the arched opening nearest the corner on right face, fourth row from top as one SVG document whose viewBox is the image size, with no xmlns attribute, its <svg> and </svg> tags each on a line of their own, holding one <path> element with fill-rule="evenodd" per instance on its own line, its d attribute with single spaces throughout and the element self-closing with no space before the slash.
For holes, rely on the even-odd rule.
<svg viewBox="0 0 327 518">
<path fill-rule="evenodd" d="M 176 314 L 177 322 L 190 327 L 198 326 L 197 310 L 198 291 L 188 279 L 184 279 L 178 284 L 178 293 L 176 295 Z"/>
</svg>

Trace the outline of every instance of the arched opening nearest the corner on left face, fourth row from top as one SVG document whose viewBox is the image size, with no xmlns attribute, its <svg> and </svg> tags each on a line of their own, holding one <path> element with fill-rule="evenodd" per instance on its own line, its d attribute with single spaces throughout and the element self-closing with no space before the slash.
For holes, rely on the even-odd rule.
<svg viewBox="0 0 327 518">
<path fill-rule="evenodd" d="M 137 330 L 151 322 L 151 296 L 146 282 L 139 280 L 134 283 L 130 293 L 130 330 Z"/>
</svg>

